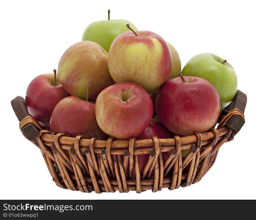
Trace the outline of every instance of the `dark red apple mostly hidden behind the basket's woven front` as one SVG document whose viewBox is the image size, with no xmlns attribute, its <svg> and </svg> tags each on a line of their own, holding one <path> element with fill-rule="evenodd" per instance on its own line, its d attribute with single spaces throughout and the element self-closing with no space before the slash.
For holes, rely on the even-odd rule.
<svg viewBox="0 0 256 220">
<path fill-rule="evenodd" d="M 148 124 L 145 131 L 136 137 L 137 140 L 142 139 L 151 139 L 153 136 L 158 138 L 171 138 L 170 132 L 160 123 L 159 120 L 152 118 L 150 123 Z M 166 161 L 167 157 L 169 156 L 170 152 L 163 152 L 163 163 Z M 139 154 L 138 161 L 139 161 L 139 168 L 141 175 L 143 174 L 143 170 L 145 165 L 147 164 L 148 158 L 150 154 Z M 133 176 L 135 177 L 135 167 L 133 167 Z M 154 171 L 152 172 L 152 176 L 154 176 Z"/>
</svg>

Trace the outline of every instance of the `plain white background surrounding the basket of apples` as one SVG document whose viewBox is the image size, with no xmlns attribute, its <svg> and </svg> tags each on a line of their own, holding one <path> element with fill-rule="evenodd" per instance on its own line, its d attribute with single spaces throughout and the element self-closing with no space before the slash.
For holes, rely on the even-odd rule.
<svg viewBox="0 0 256 220">
<path fill-rule="evenodd" d="M 253 1 L 1 1 L 1 199 L 256 199 L 255 5 Z M 10 101 L 25 97 L 37 75 L 57 69 L 63 52 L 91 22 L 127 19 L 172 43 L 182 67 L 211 52 L 227 59 L 248 97 L 246 123 L 214 166 L 187 188 L 136 194 L 64 190 L 52 181 L 38 148 L 25 139 Z"/>
</svg>

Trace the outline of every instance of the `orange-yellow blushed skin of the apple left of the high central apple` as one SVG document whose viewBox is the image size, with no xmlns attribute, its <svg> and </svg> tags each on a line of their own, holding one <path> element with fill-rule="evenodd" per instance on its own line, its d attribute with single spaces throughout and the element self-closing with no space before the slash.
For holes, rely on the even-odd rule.
<svg viewBox="0 0 256 220">
<path fill-rule="evenodd" d="M 80 41 L 70 46 L 58 64 L 59 80 L 72 96 L 86 99 L 87 85 L 91 85 L 89 101 L 106 87 L 114 84 L 107 64 L 108 53 L 92 41 Z"/>
</svg>

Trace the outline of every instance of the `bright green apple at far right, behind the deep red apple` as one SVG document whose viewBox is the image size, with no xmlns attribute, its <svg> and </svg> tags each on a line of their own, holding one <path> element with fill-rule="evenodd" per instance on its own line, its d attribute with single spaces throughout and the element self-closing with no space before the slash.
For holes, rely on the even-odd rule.
<svg viewBox="0 0 256 220">
<path fill-rule="evenodd" d="M 237 74 L 234 68 L 221 57 L 201 53 L 192 57 L 182 70 L 184 76 L 207 79 L 214 85 L 221 99 L 221 110 L 234 98 L 237 92 Z"/>
</svg>

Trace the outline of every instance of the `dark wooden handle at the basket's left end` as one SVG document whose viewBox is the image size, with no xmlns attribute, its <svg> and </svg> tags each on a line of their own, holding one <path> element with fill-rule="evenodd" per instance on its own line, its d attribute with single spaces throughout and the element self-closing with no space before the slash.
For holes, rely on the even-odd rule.
<svg viewBox="0 0 256 220">
<path fill-rule="evenodd" d="M 16 98 L 14 98 L 11 101 L 11 105 L 19 121 L 27 116 L 30 116 L 26 108 L 25 99 L 21 96 L 17 96 Z M 32 123 L 29 123 L 24 128 L 22 128 L 22 132 L 30 141 L 34 140 L 38 136 L 38 130 Z"/>
</svg>

